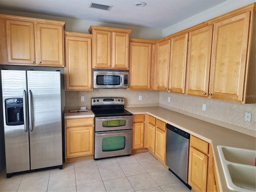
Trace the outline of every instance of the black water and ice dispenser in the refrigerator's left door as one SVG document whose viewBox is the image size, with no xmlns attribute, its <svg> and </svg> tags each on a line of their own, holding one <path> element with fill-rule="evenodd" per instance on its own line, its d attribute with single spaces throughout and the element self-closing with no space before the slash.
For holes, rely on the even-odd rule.
<svg viewBox="0 0 256 192">
<path fill-rule="evenodd" d="M 6 125 L 24 124 L 23 99 L 8 98 L 5 100 Z"/>
</svg>

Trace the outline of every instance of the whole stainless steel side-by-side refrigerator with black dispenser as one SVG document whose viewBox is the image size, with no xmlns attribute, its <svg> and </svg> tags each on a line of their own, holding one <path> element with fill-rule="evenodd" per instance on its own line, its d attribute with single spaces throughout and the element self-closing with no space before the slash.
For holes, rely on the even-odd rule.
<svg viewBox="0 0 256 192">
<path fill-rule="evenodd" d="M 59 71 L 1 70 L 6 176 L 62 168 Z"/>
</svg>

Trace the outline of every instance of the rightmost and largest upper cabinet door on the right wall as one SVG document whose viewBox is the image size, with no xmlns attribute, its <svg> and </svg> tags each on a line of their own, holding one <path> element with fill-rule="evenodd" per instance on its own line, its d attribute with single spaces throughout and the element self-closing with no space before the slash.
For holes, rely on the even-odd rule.
<svg viewBox="0 0 256 192">
<path fill-rule="evenodd" d="M 215 24 L 210 82 L 212 98 L 243 100 L 249 23 L 250 12 L 246 12 Z"/>
</svg>

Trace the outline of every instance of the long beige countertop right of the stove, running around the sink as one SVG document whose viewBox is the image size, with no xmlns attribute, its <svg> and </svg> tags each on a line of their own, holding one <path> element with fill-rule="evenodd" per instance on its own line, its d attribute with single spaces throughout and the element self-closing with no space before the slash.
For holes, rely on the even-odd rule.
<svg viewBox="0 0 256 192">
<path fill-rule="evenodd" d="M 132 114 L 149 114 L 168 124 L 176 126 L 212 144 L 216 172 L 221 191 L 228 188 L 218 154 L 218 145 L 256 150 L 256 138 L 247 134 L 224 128 L 162 107 L 128 107 Z"/>
</svg>

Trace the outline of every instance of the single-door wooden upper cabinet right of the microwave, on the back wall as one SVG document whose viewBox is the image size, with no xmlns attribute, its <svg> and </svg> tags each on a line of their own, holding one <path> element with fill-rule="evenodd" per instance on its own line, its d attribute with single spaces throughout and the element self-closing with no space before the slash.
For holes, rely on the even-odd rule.
<svg viewBox="0 0 256 192">
<path fill-rule="evenodd" d="M 154 89 L 155 43 L 130 39 L 128 90 Z"/>
</svg>

